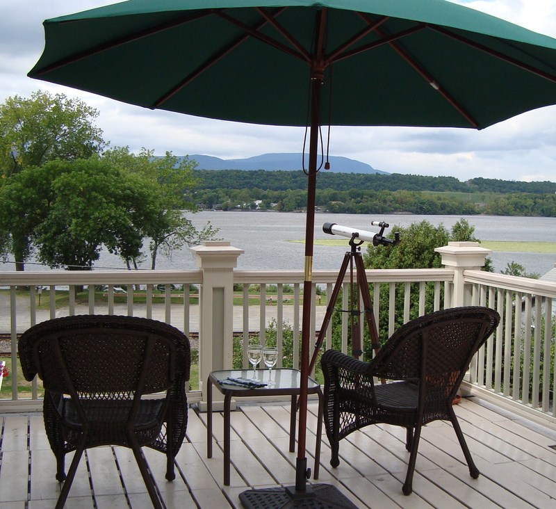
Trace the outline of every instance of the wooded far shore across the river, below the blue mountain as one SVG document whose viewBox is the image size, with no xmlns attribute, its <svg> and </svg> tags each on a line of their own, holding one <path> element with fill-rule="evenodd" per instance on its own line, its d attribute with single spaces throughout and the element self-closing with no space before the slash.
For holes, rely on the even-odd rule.
<svg viewBox="0 0 556 509">
<path fill-rule="evenodd" d="M 199 207 L 222 210 L 304 210 L 300 171 L 194 170 Z M 319 172 L 316 205 L 329 213 L 556 216 L 556 182 L 513 182 L 421 175 Z"/>
</svg>

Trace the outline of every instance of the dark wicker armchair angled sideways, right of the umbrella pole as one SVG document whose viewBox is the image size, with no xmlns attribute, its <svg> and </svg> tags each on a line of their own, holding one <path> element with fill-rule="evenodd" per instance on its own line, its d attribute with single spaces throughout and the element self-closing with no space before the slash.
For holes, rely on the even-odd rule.
<svg viewBox="0 0 556 509">
<path fill-rule="evenodd" d="M 403 325 L 371 362 L 327 350 L 321 365 L 332 467 L 340 463 L 340 440 L 353 431 L 376 423 L 403 426 L 407 428 L 406 449 L 411 455 L 402 491 L 409 495 L 421 427 L 442 419 L 452 423 L 469 473 L 477 478 L 479 470 L 461 433 L 452 401 L 473 355 L 498 321 L 498 313 L 487 307 L 445 309 Z M 377 379 L 386 379 L 387 383 L 383 385 Z"/>
</svg>

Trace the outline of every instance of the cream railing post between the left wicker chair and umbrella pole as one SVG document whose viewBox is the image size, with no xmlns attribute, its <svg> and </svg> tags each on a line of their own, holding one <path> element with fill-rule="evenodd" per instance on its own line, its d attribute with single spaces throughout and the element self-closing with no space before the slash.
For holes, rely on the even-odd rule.
<svg viewBox="0 0 556 509">
<path fill-rule="evenodd" d="M 225 241 L 205 241 L 190 250 L 202 270 L 199 291 L 199 388 L 211 371 L 231 369 L 234 332 L 234 268 L 243 250 Z"/>
</svg>

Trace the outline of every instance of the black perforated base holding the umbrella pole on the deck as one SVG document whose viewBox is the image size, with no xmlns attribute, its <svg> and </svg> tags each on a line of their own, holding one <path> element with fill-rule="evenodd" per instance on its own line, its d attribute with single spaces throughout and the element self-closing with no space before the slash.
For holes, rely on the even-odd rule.
<svg viewBox="0 0 556 509">
<path fill-rule="evenodd" d="M 357 509 L 336 487 L 327 484 L 309 485 L 305 492 L 296 492 L 294 486 L 247 490 L 239 499 L 245 509 Z"/>
</svg>

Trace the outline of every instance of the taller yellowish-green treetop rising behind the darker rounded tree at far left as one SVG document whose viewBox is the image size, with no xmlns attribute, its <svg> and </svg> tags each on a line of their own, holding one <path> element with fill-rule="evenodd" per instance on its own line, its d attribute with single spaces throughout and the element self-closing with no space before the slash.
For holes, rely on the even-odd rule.
<svg viewBox="0 0 556 509">
<path fill-rule="evenodd" d="M 93 124 L 98 115 L 63 94 L 38 90 L 30 98 L 8 97 L 0 105 L 0 181 L 28 166 L 100 152 L 102 131 Z"/>
</svg>

